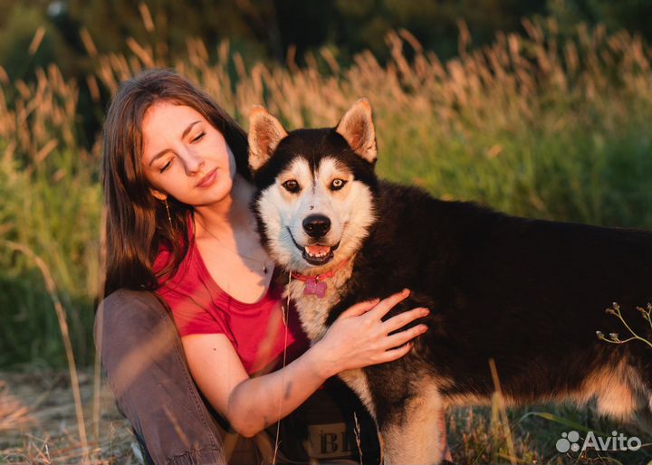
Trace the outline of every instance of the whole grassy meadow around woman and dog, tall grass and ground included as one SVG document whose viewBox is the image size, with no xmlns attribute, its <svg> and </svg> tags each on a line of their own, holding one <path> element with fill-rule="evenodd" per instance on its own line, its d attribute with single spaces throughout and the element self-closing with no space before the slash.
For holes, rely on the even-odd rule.
<svg viewBox="0 0 652 465">
<path fill-rule="evenodd" d="M 99 53 L 83 30 L 95 70 L 85 85 L 101 116 L 101 97 L 121 80 L 173 67 L 245 128 L 254 104 L 287 128 L 333 126 L 365 96 L 380 176 L 511 214 L 652 228 L 652 49 L 601 26 L 561 34 L 553 21 L 523 24 L 526 33 L 498 33 L 483 48 L 462 27 L 459 55 L 448 62 L 398 31 L 387 37 L 388 62 L 362 52 L 347 68 L 327 48 L 301 60 L 291 52 L 285 66 L 246 65 L 228 43 L 208 51 L 197 39 L 173 62 L 156 43 L 132 39 L 128 56 Z M 38 45 L 37 33 L 26 55 Z M 92 345 L 102 288 L 101 135 L 84 136 L 79 98 L 79 83 L 63 79 L 55 64 L 29 82 L 0 68 L 0 369 L 7 373 L 0 374 L 0 436 L 10 438 L 0 441 L 0 463 L 138 461 L 124 422 L 102 401 L 110 394 Z M 56 370 L 67 371 L 55 383 Z M 26 386 L 22 397 L 20 388 L 9 392 L 12 380 L 23 380 L 15 384 Z M 43 383 L 49 387 L 34 391 Z M 39 418 L 42 404 L 31 401 L 62 387 L 56 397 L 66 399 L 67 413 L 58 411 L 65 427 L 61 419 L 58 426 L 27 421 Z M 557 453 L 555 441 L 570 427 L 614 425 L 590 408 L 546 412 L 507 414 L 497 400 L 494 409 L 450 413 L 456 463 L 652 460 L 649 445 L 604 457 Z"/>
</svg>

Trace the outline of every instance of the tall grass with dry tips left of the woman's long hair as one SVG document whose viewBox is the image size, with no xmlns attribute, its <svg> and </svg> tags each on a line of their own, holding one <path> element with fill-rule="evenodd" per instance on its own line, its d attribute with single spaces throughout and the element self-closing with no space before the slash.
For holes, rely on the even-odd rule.
<svg viewBox="0 0 652 465">
<path fill-rule="evenodd" d="M 78 89 L 53 65 L 0 92 L 0 239 L 41 257 L 60 289 L 78 356 L 88 360 L 89 312 L 100 282 L 97 155 L 77 134 Z M 0 247 L 0 365 L 62 364 L 59 325 L 34 261 Z"/>
</svg>

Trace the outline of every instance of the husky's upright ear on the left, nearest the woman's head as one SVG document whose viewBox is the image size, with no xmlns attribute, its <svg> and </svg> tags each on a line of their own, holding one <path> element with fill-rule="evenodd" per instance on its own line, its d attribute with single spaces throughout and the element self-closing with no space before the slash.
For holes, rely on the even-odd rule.
<svg viewBox="0 0 652 465">
<path fill-rule="evenodd" d="M 260 105 L 249 114 L 249 166 L 256 171 L 272 156 L 287 131 Z"/>
</svg>

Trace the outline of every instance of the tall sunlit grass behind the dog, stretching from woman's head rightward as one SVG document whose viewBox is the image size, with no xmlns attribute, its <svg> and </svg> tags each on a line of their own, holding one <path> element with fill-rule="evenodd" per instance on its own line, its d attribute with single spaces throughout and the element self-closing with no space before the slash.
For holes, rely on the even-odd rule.
<svg viewBox="0 0 652 465">
<path fill-rule="evenodd" d="M 287 68 L 247 69 L 227 43 L 211 60 L 188 41 L 187 60 L 168 63 L 129 42 L 133 56 L 99 59 L 99 78 L 114 90 L 143 66 L 173 65 L 238 119 L 264 103 L 289 128 L 332 125 L 367 96 L 383 176 L 514 214 L 650 224 L 650 49 L 624 31 L 580 26 L 562 38 L 553 21 L 524 25 L 527 35 L 499 33 L 483 49 L 462 34 L 446 63 L 400 31 L 388 36 L 390 62 L 363 52 L 344 70 L 328 49 L 302 67 L 291 54 Z"/>
</svg>

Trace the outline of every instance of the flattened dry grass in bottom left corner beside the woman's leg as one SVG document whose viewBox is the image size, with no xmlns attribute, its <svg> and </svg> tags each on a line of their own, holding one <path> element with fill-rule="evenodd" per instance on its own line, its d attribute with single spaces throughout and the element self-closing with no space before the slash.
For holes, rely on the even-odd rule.
<svg viewBox="0 0 652 465">
<path fill-rule="evenodd" d="M 80 441 L 72 386 L 63 371 L 38 374 L 0 373 L 0 463 L 93 465 L 138 463 L 136 441 L 113 403 L 108 386 L 94 384 L 91 373 L 79 385 L 91 422 L 87 441 Z M 99 399 L 100 415 L 92 410 Z M 85 444 L 85 445 L 84 445 Z"/>
</svg>

